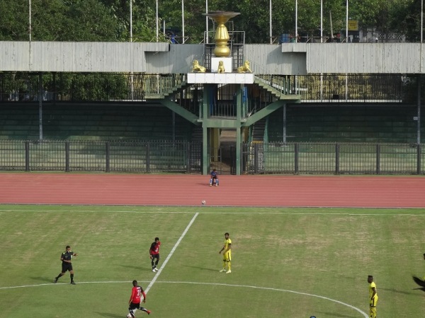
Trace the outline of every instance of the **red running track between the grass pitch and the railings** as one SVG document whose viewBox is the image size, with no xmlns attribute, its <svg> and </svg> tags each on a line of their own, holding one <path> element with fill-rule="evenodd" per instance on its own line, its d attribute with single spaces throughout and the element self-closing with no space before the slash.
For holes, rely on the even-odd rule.
<svg viewBox="0 0 425 318">
<path fill-rule="evenodd" d="M 425 208 L 425 178 L 0 173 L 0 204 Z"/>
</svg>

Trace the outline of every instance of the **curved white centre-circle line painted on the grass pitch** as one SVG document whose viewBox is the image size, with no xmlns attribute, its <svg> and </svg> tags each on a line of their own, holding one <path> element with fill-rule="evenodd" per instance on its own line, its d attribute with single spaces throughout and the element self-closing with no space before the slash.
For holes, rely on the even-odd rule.
<svg viewBox="0 0 425 318">
<path fill-rule="evenodd" d="M 193 217 L 192 220 L 194 220 L 195 217 Z M 190 225 L 188 225 L 189 227 Z M 183 237 L 183 235 L 182 235 Z M 176 245 L 178 245 L 176 243 Z M 176 247 L 176 246 L 175 246 Z M 167 258 L 168 259 L 168 258 Z M 159 273 L 159 272 L 158 272 Z M 158 274 L 157 273 L 157 274 Z M 157 275 L 155 276 L 156 280 Z M 96 283 L 130 283 L 129 281 L 86 281 L 86 282 L 79 282 L 79 284 L 96 284 Z M 147 281 L 142 281 L 142 283 L 147 283 Z M 363 317 L 368 318 L 368 314 L 363 312 L 362 310 L 358 309 L 357 307 L 354 307 L 352 305 L 346 304 L 345 302 L 340 302 L 339 300 L 334 300 L 332 298 L 327 298 L 321 295 L 314 295 L 309 293 L 301 293 L 297 292 L 295 290 L 286 290 L 286 289 L 280 289 L 280 288 L 271 288 L 271 287 L 258 287 L 258 286 L 252 286 L 252 285 L 233 285 L 233 284 L 223 284 L 223 283 L 198 283 L 198 282 L 191 282 L 191 281 L 159 281 L 157 283 L 166 283 L 166 284 L 192 284 L 192 285 L 216 285 L 216 286 L 226 286 L 226 287 L 242 287 L 242 288 L 255 288 L 255 289 L 261 289 L 261 290 L 274 290 L 274 291 L 280 291 L 284 293 L 293 293 L 297 295 L 305 295 L 310 297 L 316 297 L 316 298 L 322 298 L 324 300 L 329 300 L 331 302 L 336 302 L 339 305 L 343 305 L 346 307 L 349 307 L 353 310 L 356 310 L 357 312 L 363 314 Z M 153 280 L 151 284 L 149 284 L 149 287 L 153 284 Z M 0 287 L 0 290 L 2 289 L 12 289 L 12 288 L 28 288 L 28 287 L 38 287 L 38 286 L 46 286 L 46 285 L 69 285 L 68 283 L 48 283 L 48 284 L 38 284 L 38 285 L 21 285 L 21 286 L 11 286 L 11 287 Z M 148 288 L 149 288 L 148 287 Z M 147 293 L 147 291 L 146 291 Z"/>
</svg>

